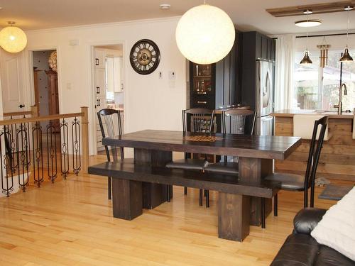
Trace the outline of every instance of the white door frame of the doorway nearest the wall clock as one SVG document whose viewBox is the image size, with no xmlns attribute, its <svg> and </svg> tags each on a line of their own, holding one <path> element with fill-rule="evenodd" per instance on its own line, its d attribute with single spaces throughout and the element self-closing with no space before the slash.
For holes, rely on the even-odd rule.
<svg viewBox="0 0 355 266">
<path fill-rule="evenodd" d="M 105 46 L 105 45 L 122 45 L 122 65 L 124 65 L 124 109 L 126 109 L 126 104 L 128 101 L 126 101 L 127 96 L 126 96 L 126 88 L 127 88 L 127 79 L 126 79 L 126 41 L 119 39 L 119 40 L 107 40 L 107 41 L 97 41 L 97 42 L 89 42 L 87 43 L 87 58 L 89 58 L 89 63 L 87 64 L 87 77 L 89 77 L 89 124 L 91 123 L 91 126 L 89 125 L 89 150 L 90 150 L 90 155 L 97 155 L 97 137 L 96 137 L 96 131 L 97 131 L 97 125 L 96 125 L 96 117 L 97 117 L 97 111 L 94 109 L 95 105 L 95 94 L 94 94 L 94 82 L 95 82 L 95 67 L 94 67 L 94 48 L 97 46 Z M 91 110 L 90 111 L 90 107 Z M 124 112 L 124 128 L 126 128 L 126 111 Z"/>
</svg>

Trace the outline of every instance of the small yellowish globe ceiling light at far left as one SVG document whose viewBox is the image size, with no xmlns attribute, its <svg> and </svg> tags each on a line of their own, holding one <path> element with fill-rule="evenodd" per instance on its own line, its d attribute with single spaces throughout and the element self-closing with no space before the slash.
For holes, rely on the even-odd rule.
<svg viewBox="0 0 355 266">
<path fill-rule="evenodd" d="M 27 45 L 26 34 L 21 28 L 13 26 L 14 24 L 14 22 L 9 21 L 10 26 L 0 31 L 0 46 L 6 52 L 21 52 Z"/>
</svg>

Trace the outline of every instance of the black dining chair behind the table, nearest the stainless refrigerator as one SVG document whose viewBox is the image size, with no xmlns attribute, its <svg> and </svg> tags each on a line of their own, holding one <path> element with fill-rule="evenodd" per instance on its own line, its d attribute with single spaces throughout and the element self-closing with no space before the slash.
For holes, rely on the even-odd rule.
<svg viewBox="0 0 355 266">
<path fill-rule="evenodd" d="M 244 109 L 229 109 L 222 112 L 222 133 L 253 135 L 256 121 L 256 112 Z M 238 162 L 228 161 L 224 155 L 224 160 L 212 163 L 204 167 L 205 172 L 218 174 L 238 174 Z"/>
</svg>

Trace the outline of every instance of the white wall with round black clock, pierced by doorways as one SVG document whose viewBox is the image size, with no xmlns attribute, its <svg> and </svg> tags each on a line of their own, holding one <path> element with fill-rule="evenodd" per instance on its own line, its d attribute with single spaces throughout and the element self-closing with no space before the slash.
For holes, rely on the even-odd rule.
<svg viewBox="0 0 355 266">
<path fill-rule="evenodd" d="M 58 51 L 58 85 L 60 113 L 79 111 L 89 106 L 90 153 L 94 153 L 94 101 L 92 96 L 92 46 L 123 43 L 125 66 L 125 131 L 143 129 L 182 130 L 181 110 L 186 106 L 185 58 L 175 44 L 175 27 L 178 18 L 108 23 L 93 26 L 58 28 L 26 32 L 28 50 L 53 48 Z M 160 49 L 160 65 L 152 74 L 141 75 L 129 64 L 129 51 L 136 41 L 148 38 Z M 70 45 L 78 40 L 79 45 Z M 28 53 L 29 54 L 29 53 Z M 31 90 L 29 60 L 28 87 Z M 176 79 L 170 81 L 168 72 L 174 70 Z M 163 79 L 158 72 L 163 71 Z M 31 103 L 30 103 L 31 104 Z"/>
</svg>

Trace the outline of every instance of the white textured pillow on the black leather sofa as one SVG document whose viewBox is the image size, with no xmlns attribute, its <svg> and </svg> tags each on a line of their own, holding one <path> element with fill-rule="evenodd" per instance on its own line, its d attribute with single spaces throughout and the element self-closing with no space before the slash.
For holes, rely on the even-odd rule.
<svg viewBox="0 0 355 266">
<path fill-rule="evenodd" d="M 355 187 L 324 214 L 311 235 L 355 260 Z"/>
</svg>

